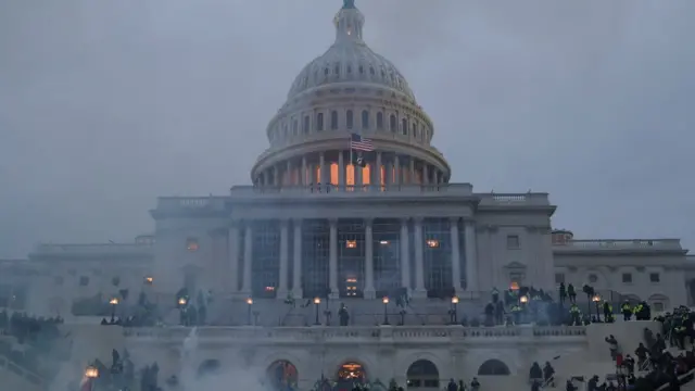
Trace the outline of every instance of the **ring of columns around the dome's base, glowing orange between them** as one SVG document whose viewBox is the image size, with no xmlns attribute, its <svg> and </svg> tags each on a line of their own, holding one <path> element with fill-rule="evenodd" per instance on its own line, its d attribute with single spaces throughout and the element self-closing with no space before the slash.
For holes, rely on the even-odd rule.
<svg viewBox="0 0 695 391">
<path fill-rule="evenodd" d="M 353 160 L 357 152 L 353 151 Z M 364 167 L 350 161 L 350 151 L 327 151 L 288 159 L 258 172 L 260 187 L 330 184 L 339 187 L 364 185 L 437 185 L 448 181 L 446 173 L 424 160 L 388 152 L 365 152 Z"/>
</svg>

